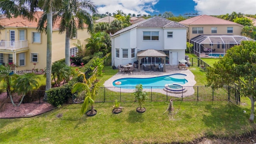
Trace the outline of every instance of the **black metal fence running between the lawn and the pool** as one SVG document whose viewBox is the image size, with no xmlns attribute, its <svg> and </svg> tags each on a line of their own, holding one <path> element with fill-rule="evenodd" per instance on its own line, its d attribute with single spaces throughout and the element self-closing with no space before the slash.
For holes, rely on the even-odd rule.
<svg viewBox="0 0 256 144">
<path fill-rule="evenodd" d="M 160 86 L 143 87 L 148 92 L 148 102 L 161 102 L 170 99 L 179 101 L 229 101 L 240 104 L 240 94 L 236 88 L 224 86 L 212 89 L 206 86 L 182 86 L 178 88 L 168 88 Z M 135 102 L 134 87 L 100 87 L 95 102 Z M 0 100 L 8 99 L 7 91 L 0 90 Z M 14 103 L 20 102 L 21 95 L 12 91 Z M 85 93 L 73 95 L 66 98 L 67 104 L 82 103 Z M 10 99 L 8 100 L 10 102 Z M 31 91 L 24 97 L 23 103 L 47 103 L 44 101 L 44 91 Z"/>
</svg>

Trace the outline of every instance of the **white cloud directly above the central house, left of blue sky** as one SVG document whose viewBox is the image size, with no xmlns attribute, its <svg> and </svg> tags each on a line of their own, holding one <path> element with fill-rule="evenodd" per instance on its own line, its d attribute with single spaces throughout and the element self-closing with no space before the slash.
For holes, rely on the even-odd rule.
<svg viewBox="0 0 256 144">
<path fill-rule="evenodd" d="M 159 0 L 94 0 L 100 14 L 122 10 L 125 14 L 149 14 L 156 12 L 154 5 Z"/>
</svg>

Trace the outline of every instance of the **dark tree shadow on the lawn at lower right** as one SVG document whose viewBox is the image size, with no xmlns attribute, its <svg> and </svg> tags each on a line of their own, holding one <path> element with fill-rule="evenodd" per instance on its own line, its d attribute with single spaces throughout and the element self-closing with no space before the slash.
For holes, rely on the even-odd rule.
<svg viewBox="0 0 256 144">
<path fill-rule="evenodd" d="M 246 110 L 246 113 L 244 113 Z M 202 121 L 210 128 L 207 136 L 214 137 L 215 134 L 227 137 L 229 134 L 237 134 L 250 127 L 249 116 L 250 110 L 240 108 L 234 104 L 226 104 L 219 106 L 206 105 L 206 114 L 203 114 Z M 226 135 L 225 135 L 226 134 Z"/>
</svg>

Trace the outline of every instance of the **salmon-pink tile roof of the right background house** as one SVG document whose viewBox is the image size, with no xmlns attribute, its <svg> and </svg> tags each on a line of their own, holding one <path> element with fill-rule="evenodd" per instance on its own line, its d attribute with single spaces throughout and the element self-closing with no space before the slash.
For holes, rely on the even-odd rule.
<svg viewBox="0 0 256 144">
<path fill-rule="evenodd" d="M 195 16 L 186 20 L 182 20 L 179 23 L 185 24 L 185 25 L 219 25 L 219 24 L 225 25 L 226 24 L 226 25 L 242 26 L 241 24 L 238 24 L 235 22 L 230 22 L 228 20 L 223 20 L 221 18 L 216 18 L 214 16 L 208 16 L 208 15 Z"/>
</svg>

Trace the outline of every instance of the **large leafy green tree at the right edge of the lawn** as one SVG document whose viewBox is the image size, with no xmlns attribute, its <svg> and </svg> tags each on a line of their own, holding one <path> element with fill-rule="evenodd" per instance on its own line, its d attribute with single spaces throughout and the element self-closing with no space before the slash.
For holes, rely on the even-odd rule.
<svg viewBox="0 0 256 144">
<path fill-rule="evenodd" d="M 250 98 L 250 121 L 254 120 L 256 101 L 256 42 L 242 41 L 241 45 L 227 50 L 223 58 L 206 73 L 208 86 L 220 88 L 225 85 L 235 86 L 241 96 Z"/>
</svg>

